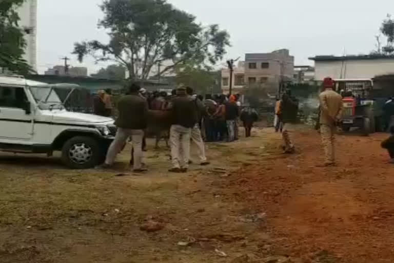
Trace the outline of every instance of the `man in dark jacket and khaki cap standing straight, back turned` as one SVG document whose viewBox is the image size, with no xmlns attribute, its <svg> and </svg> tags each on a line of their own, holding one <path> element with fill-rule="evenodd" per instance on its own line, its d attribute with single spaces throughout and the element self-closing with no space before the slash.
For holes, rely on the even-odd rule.
<svg viewBox="0 0 394 263">
<path fill-rule="evenodd" d="M 170 128 L 172 168 L 169 172 L 186 173 L 189 167 L 191 129 L 198 121 L 195 102 L 180 86 L 172 100 L 173 122 Z"/>
</svg>

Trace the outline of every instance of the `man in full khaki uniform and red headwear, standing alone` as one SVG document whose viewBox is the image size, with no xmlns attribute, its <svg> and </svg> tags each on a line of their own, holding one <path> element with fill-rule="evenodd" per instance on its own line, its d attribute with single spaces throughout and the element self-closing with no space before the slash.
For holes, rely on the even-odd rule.
<svg viewBox="0 0 394 263">
<path fill-rule="evenodd" d="M 333 90 L 334 81 L 325 78 L 324 91 L 320 93 L 320 134 L 325 154 L 325 166 L 335 164 L 334 134 L 342 115 L 342 96 Z"/>
</svg>

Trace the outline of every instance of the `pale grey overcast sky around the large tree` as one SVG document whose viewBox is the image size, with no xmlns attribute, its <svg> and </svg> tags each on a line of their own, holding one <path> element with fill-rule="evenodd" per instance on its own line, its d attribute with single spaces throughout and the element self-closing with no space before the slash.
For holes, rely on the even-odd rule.
<svg viewBox="0 0 394 263">
<path fill-rule="evenodd" d="M 72 66 L 87 66 L 89 74 L 103 64 L 83 64 L 71 55 L 73 43 L 106 41 L 97 29 L 102 0 L 38 0 L 38 70 L 62 64 L 67 55 Z M 295 64 L 313 64 L 308 57 L 323 54 L 360 54 L 375 49 L 375 35 L 392 0 L 169 0 L 196 16 L 204 25 L 219 24 L 231 35 L 225 58 L 244 58 L 247 52 L 288 48 Z"/>
</svg>

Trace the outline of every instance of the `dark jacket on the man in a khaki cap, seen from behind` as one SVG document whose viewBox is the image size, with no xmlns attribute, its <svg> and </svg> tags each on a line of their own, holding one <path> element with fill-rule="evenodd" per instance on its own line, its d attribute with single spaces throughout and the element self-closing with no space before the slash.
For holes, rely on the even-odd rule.
<svg viewBox="0 0 394 263">
<path fill-rule="evenodd" d="M 190 96 L 175 97 L 171 103 L 172 124 L 192 128 L 198 122 L 198 108 Z"/>
</svg>

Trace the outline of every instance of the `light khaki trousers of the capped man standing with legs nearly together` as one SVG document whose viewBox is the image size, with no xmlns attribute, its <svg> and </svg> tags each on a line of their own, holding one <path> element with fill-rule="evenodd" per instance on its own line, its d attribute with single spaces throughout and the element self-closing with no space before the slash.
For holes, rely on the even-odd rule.
<svg viewBox="0 0 394 263">
<path fill-rule="evenodd" d="M 171 125 L 170 146 L 173 168 L 188 168 L 190 157 L 191 128 L 182 125 Z"/>
</svg>

